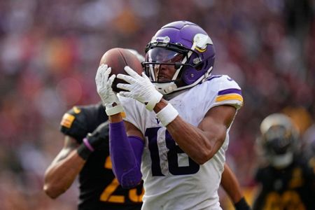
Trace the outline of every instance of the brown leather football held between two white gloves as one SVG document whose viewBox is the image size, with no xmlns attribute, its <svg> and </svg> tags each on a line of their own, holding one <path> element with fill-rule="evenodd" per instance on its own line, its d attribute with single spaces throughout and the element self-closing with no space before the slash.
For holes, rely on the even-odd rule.
<svg viewBox="0 0 315 210">
<path fill-rule="evenodd" d="M 107 64 L 109 67 L 111 67 L 111 75 L 116 74 L 116 76 L 118 73 L 127 74 L 124 70 L 125 66 L 130 66 L 130 68 L 139 73 L 139 75 L 141 75 L 143 71 L 141 62 L 139 61 L 137 55 L 134 55 L 134 53 L 132 53 L 130 50 L 124 48 L 112 48 L 111 50 L 106 51 L 99 64 Z M 116 87 L 118 83 L 126 82 L 124 80 L 115 78 L 112 85 L 113 91 L 126 91 Z"/>
</svg>

